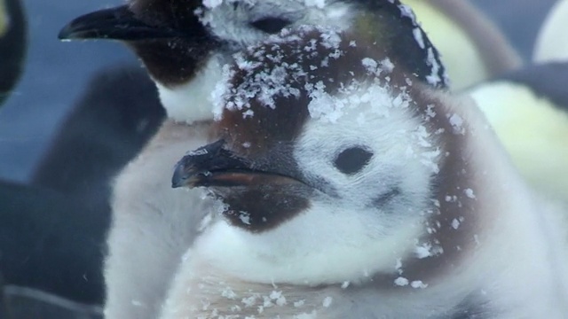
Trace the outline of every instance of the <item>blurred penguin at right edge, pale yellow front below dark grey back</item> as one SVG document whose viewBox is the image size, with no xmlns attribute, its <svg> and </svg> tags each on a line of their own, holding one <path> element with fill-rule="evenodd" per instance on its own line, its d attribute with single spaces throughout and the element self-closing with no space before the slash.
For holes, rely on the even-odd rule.
<svg viewBox="0 0 568 319">
<path fill-rule="evenodd" d="M 568 202 L 568 63 L 527 66 L 466 92 L 485 113 L 520 173 Z"/>
</svg>

